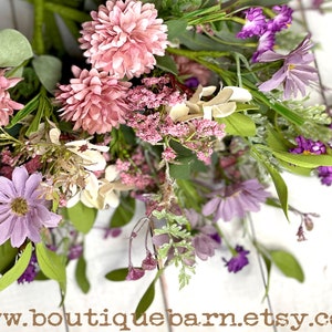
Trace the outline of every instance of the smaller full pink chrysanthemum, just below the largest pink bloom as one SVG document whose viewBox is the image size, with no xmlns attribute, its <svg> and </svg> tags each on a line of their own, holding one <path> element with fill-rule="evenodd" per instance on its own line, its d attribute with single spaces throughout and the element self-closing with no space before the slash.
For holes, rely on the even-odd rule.
<svg viewBox="0 0 332 332">
<path fill-rule="evenodd" d="M 60 85 L 55 98 L 63 107 L 62 117 L 75 122 L 74 131 L 104 134 L 124 123 L 128 106 L 125 96 L 129 82 L 120 82 L 96 69 L 72 68 L 74 79 Z"/>
</svg>

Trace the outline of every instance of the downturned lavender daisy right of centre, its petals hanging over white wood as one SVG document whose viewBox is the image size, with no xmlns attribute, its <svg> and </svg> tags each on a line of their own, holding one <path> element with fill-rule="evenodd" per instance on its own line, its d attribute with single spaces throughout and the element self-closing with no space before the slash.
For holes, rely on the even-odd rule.
<svg viewBox="0 0 332 332">
<path fill-rule="evenodd" d="M 222 186 L 209 194 L 212 197 L 204 207 L 205 216 L 215 215 L 214 220 L 220 218 L 229 221 L 235 217 L 243 218 L 246 212 L 260 210 L 260 203 L 270 196 L 258 179 L 252 178 L 240 184 Z"/>
</svg>

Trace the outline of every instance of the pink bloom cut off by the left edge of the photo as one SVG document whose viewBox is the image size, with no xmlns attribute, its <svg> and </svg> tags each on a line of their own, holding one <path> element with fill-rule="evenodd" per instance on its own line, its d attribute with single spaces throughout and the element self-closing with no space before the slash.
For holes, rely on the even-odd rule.
<svg viewBox="0 0 332 332">
<path fill-rule="evenodd" d="M 0 70 L 0 126 L 7 126 L 9 116 L 13 114 L 14 110 L 21 110 L 24 105 L 11 100 L 8 89 L 17 85 L 22 79 L 4 77 L 6 70 Z"/>
</svg>

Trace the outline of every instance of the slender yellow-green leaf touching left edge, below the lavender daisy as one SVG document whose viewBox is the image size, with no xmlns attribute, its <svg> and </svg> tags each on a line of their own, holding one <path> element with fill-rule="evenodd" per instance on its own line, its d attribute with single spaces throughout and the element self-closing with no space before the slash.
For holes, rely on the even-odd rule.
<svg viewBox="0 0 332 332">
<path fill-rule="evenodd" d="M 32 245 L 29 242 L 15 264 L 0 278 L 0 291 L 17 281 L 25 271 L 32 253 Z"/>
</svg>

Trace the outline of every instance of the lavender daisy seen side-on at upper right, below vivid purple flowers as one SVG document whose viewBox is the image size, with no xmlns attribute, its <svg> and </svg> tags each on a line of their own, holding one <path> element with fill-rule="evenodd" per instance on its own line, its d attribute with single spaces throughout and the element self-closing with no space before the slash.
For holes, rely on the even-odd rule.
<svg viewBox="0 0 332 332">
<path fill-rule="evenodd" d="M 297 97 L 298 92 L 305 95 L 305 87 L 312 82 L 317 82 L 317 70 L 309 65 L 313 62 L 313 54 L 308 53 L 312 48 L 310 35 L 289 54 L 282 55 L 273 51 L 267 51 L 258 58 L 259 62 L 272 62 L 283 60 L 283 65 L 273 76 L 259 85 L 261 92 L 272 91 L 283 84 L 283 97 L 289 100 L 291 95 Z"/>
</svg>

